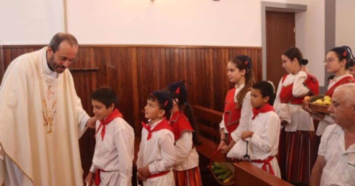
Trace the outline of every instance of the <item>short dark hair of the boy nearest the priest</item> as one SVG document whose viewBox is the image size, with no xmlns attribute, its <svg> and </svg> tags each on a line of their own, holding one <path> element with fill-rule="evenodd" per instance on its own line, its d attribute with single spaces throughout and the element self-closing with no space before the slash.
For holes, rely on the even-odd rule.
<svg viewBox="0 0 355 186">
<path fill-rule="evenodd" d="M 90 99 L 99 101 L 106 106 L 106 109 L 113 103 L 117 108 L 118 98 L 116 92 L 111 87 L 100 87 L 90 95 Z"/>
</svg>

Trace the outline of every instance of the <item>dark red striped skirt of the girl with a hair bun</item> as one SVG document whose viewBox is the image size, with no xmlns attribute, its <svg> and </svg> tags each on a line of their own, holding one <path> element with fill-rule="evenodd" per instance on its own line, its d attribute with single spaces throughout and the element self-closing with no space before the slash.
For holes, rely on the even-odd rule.
<svg viewBox="0 0 355 186">
<path fill-rule="evenodd" d="M 309 183 L 317 151 L 315 132 L 282 129 L 277 158 L 282 178 L 293 184 Z"/>
</svg>

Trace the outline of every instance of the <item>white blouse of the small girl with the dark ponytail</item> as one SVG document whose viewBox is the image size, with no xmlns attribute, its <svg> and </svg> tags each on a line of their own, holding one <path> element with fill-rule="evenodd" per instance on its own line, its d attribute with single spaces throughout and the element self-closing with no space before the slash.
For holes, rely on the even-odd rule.
<svg viewBox="0 0 355 186">
<path fill-rule="evenodd" d="M 198 153 L 192 142 L 192 132 L 182 132 L 175 141 L 176 163 L 174 170 L 188 170 L 198 166 Z"/>
</svg>

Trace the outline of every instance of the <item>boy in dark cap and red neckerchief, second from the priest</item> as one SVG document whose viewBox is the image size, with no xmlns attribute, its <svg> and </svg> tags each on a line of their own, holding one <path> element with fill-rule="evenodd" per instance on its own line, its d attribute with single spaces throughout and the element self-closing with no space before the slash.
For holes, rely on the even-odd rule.
<svg viewBox="0 0 355 186">
<path fill-rule="evenodd" d="M 142 122 L 142 139 L 137 157 L 138 179 L 144 186 L 174 186 L 173 166 L 176 162 L 174 134 L 165 116 L 173 100 L 166 91 L 149 95 L 144 107 L 149 123 Z"/>
</svg>

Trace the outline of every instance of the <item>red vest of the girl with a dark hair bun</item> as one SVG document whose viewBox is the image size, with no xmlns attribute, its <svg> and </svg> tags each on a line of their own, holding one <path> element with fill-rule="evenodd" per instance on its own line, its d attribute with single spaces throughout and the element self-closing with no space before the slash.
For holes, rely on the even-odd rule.
<svg viewBox="0 0 355 186">
<path fill-rule="evenodd" d="M 285 81 L 286 76 L 288 74 L 284 75 L 282 77 L 282 83 Z M 315 76 L 312 75 L 307 75 L 307 79 L 304 82 L 304 85 L 310 89 L 311 93 L 310 95 L 317 95 L 319 93 L 319 84 L 318 80 Z M 304 97 L 296 98 L 292 94 L 292 88 L 293 88 L 293 83 L 291 83 L 288 86 L 282 86 L 281 92 L 280 92 L 280 101 L 281 103 L 291 103 L 295 105 L 302 105 L 302 101 Z"/>
</svg>

